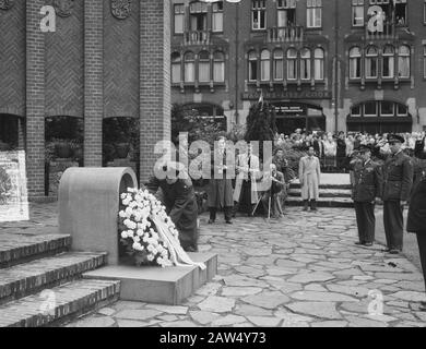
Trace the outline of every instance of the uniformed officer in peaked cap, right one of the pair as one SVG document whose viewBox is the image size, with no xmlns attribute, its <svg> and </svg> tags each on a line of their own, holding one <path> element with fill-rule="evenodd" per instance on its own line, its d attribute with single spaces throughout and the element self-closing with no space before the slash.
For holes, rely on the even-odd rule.
<svg viewBox="0 0 426 349">
<path fill-rule="evenodd" d="M 388 139 L 391 155 L 383 165 L 383 222 L 388 248 L 383 252 L 399 254 L 403 246 L 404 206 L 413 185 L 413 161 L 402 152 L 405 140 L 397 134 Z"/>
</svg>

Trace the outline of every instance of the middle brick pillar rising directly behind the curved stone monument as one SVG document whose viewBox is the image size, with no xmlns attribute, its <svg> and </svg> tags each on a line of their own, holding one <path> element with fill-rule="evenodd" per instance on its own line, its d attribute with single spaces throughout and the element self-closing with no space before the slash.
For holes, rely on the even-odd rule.
<svg viewBox="0 0 426 349">
<path fill-rule="evenodd" d="M 102 167 L 104 1 L 84 1 L 84 166 Z"/>
</svg>

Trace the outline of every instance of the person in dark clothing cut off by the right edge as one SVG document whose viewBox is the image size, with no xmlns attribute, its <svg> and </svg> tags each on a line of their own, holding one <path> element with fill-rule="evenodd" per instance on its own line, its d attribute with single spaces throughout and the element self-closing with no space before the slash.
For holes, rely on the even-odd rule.
<svg viewBox="0 0 426 349">
<path fill-rule="evenodd" d="M 426 171 L 413 191 L 410 200 L 409 221 L 406 230 L 417 236 L 422 262 L 423 278 L 426 287 Z M 426 302 L 421 302 L 419 310 L 426 312 Z"/>
</svg>

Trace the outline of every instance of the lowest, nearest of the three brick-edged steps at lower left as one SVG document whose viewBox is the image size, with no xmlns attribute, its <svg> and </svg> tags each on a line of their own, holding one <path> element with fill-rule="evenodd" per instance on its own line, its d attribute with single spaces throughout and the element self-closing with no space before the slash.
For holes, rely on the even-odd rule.
<svg viewBox="0 0 426 349">
<path fill-rule="evenodd" d="M 0 305 L 0 327 L 58 326 L 118 300 L 120 282 L 76 280 Z"/>
</svg>

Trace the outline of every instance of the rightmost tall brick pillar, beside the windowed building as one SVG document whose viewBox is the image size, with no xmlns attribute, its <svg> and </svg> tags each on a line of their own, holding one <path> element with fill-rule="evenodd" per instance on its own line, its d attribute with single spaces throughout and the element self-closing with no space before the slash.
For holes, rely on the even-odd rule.
<svg viewBox="0 0 426 349">
<path fill-rule="evenodd" d="M 141 183 L 153 171 L 158 141 L 170 140 L 170 1 L 141 0 Z"/>
</svg>

